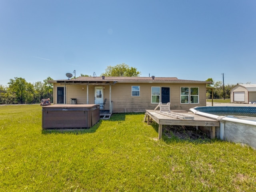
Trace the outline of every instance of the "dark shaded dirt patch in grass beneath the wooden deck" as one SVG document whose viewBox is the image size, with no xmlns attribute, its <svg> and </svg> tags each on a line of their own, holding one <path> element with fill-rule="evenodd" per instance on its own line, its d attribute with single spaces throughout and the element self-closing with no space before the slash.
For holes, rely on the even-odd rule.
<svg viewBox="0 0 256 192">
<path fill-rule="evenodd" d="M 202 131 L 196 130 L 196 126 L 164 125 L 163 130 L 169 138 L 175 136 L 184 140 L 210 139 Z"/>
</svg>

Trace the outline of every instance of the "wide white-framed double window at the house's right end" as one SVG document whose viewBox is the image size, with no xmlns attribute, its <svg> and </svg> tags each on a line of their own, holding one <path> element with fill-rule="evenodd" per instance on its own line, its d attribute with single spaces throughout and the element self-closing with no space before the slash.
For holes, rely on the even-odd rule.
<svg viewBox="0 0 256 192">
<path fill-rule="evenodd" d="M 198 103 L 198 87 L 181 87 L 180 102 L 181 103 Z"/>
</svg>

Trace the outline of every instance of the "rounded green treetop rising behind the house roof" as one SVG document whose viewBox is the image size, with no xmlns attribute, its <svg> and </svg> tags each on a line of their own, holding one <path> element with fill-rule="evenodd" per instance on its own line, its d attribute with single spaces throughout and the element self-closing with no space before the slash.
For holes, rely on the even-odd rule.
<svg viewBox="0 0 256 192">
<path fill-rule="evenodd" d="M 122 63 L 116 66 L 108 66 L 101 76 L 126 76 L 126 77 L 139 77 L 141 72 L 137 68 L 129 67 Z"/>
</svg>

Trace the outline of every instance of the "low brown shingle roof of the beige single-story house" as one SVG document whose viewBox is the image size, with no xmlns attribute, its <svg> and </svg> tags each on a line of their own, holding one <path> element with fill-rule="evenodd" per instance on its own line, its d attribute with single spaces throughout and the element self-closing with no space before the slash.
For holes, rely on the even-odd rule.
<svg viewBox="0 0 256 192">
<path fill-rule="evenodd" d="M 202 83 L 209 84 L 211 82 L 197 80 L 182 80 L 176 77 L 78 77 L 76 79 L 66 80 L 50 80 L 49 83 Z"/>
</svg>

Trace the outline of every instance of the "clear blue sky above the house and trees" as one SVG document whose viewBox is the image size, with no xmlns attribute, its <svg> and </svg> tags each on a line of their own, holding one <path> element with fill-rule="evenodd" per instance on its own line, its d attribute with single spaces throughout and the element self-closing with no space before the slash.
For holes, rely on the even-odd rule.
<svg viewBox="0 0 256 192">
<path fill-rule="evenodd" d="M 0 0 L 0 84 L 100 76 L 256 84 L 256 0 Z"/>
</svg>

